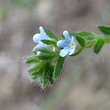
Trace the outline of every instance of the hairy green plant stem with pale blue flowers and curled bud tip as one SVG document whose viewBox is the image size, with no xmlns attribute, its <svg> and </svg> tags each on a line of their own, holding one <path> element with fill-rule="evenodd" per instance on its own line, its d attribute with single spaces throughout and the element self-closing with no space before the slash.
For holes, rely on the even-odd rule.
<svg viewBox="0 0 110 110">
<path fill-rule="evenodd" d="M 32 54 L 25 58 L 25 63 L 30 64 L 28 72 L 31 78 L 45 88 L 47 84 L 53 84 L 58 77 L 66 56 L 76 56 L 83 49 L 90 47 L 98 54 L 105 43 L 110 43 L 110 27 L 97 27 L 103 35 L 87 31 L 68 33 L 65 30 L 61 35 L 64 40 L 58 40 L 53 32 L 40 26 L 40 33 L 33 36 L 37 46 L 33 48 Z"/>
</svg>

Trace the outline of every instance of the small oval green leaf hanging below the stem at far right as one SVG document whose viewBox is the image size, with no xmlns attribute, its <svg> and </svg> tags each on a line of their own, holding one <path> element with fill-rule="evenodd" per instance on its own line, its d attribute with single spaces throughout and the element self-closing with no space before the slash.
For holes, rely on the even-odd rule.
<svg viewBox="0 0 110 110">
<path fill-rule="evenodd" d="M 104 40 L 102 38 L 98 39 L 97 42 L 95 43 L 94 47 L 93 47 L 93 51 L 96 54 L 98 54 L 103 45 L 104 45 Z"/>
</svg>

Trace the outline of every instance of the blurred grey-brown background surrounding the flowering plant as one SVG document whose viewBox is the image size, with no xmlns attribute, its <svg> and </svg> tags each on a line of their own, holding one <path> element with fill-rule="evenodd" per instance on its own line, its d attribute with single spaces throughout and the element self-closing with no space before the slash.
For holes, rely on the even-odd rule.
<svg viewBox="0 0 110 110">
<path fill-rule="evenodd" d="M 110 0 L 0 0 L 0 110 L 110 110 L 110 44 L 96 55 L 67 57 L 60 77 L 42 90 L 24 57 L 43 26 L 57 36 L 110 26 Z"/>
</svg>

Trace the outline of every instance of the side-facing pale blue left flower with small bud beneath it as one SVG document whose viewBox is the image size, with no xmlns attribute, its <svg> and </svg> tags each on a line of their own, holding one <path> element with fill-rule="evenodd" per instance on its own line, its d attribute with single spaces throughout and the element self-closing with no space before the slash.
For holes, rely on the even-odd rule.
<svg viewBox="0 0 110 110">
<path fill-rule="evenodd" d="M 42 43 L 41 40 L 46 40 L 46 39 L 49 39 L 49 37 L 46 35 L 43 27 L 39 27 L 39 30 L 40 30 L 40 33 L 37 33 L 33 36 L 33 41 L 38 43 L 34 48 L 33 48 L 33 51 L 35 51 L 37 48 L 40 48 L 40 47 L 45 47 L 47 46 L 46 44 Z M 42 52 L 37 52 L 37 55 L 40 55 L 42 54 Z"/>
</svg>

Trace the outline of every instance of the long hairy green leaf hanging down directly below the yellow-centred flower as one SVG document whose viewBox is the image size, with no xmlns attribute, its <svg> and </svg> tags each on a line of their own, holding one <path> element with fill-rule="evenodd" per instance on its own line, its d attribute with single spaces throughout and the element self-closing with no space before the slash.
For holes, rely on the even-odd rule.
<svg viewBox="0 0 110 110">
<path fill-rule="evenodd" d="M 59 57 L 57 59 L 56 66 L 54 68 L 53 79 L 55 79 L 59 75 L 59 73 L 60 73 L 60 71 L 62 69 L 64 60 L 65 60 L 65 57 Z"/>
</svg>

